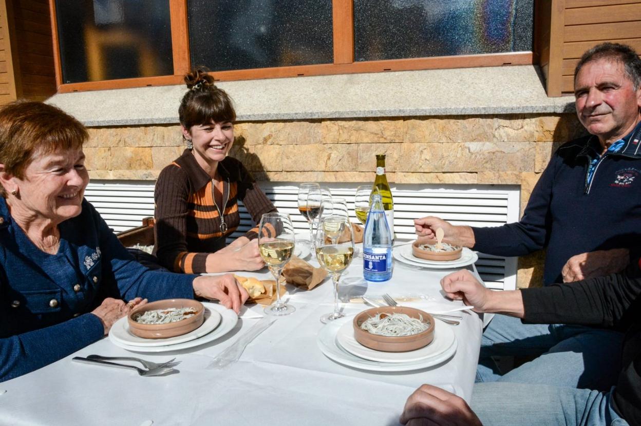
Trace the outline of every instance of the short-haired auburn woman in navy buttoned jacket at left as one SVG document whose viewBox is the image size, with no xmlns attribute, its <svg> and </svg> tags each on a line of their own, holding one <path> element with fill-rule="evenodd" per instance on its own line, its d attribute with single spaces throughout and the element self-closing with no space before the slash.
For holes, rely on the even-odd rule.
<svg viewBox="0 0 641 426">
<path fill-rule="evenodd" d="M 247 299 L 231 275 L 151 271 L 131 258 L 83 199 L 87 137 L 54 106 L 0 108 L 0 381 L 99 340 L 146 300 L 197 296 L 238 312 Z"/>
</svg>

